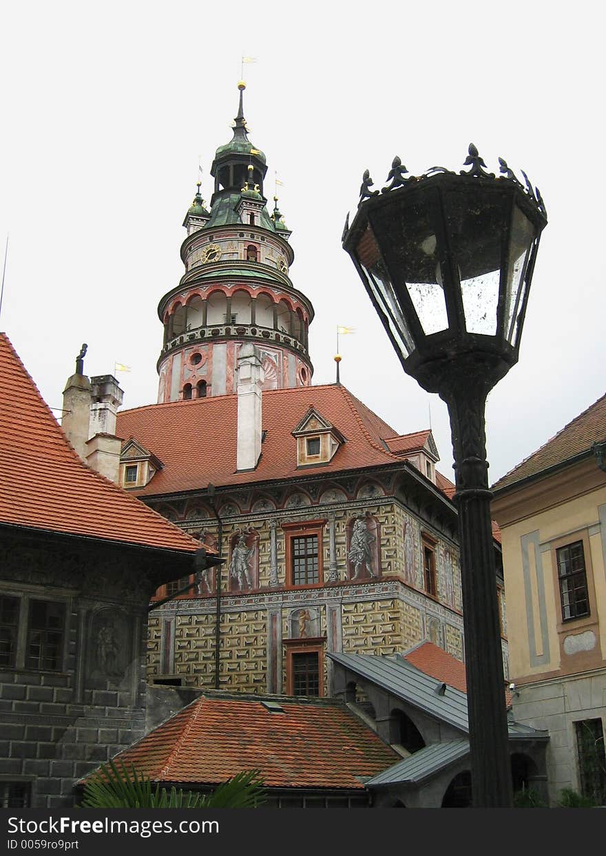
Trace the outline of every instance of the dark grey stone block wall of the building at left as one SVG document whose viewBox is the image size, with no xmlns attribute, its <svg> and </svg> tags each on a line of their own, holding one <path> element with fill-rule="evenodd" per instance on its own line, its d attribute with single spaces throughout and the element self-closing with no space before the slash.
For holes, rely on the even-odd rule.
<svg viewBox="0 0 606 856">
<path fill-rule="evenodd" d="M 0 594 L 20 603 L 15 664 L 0 669 L 0 783 L 31 782 L 33 807 L 68 807 L 75 782 L 140 740 L 147 606 L 191 564 L 51 534 L 0 539 Z M 31 599 L 65 607 L 56 671 L 27 667 Z"/>
</svg>

